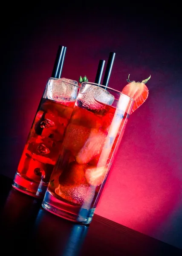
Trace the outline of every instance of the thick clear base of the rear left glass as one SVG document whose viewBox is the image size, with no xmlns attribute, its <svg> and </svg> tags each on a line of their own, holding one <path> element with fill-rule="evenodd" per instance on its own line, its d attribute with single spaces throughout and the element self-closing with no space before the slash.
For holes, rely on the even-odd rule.
<svg viewBox="0 0 182 256">
<path fill-rule="evenodd" d="M 12 184 L 13 188 L 35 198 L 43 198 L 47 189 L 47 183 L 42 180 L 40 183 L 36 183 L 31 180 L 26 180 L 20 175 L 16 174 Z"/>
</svg>

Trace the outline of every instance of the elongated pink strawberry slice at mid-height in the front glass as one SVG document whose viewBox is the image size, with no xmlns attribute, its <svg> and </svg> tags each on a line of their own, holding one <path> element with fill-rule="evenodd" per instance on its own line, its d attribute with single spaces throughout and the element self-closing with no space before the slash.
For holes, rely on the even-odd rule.
<svg viewBox="0 0 182 256">
<path fill-rule="evenodd" d="M 90 136 L 76 156 L 77 163 L 89 163 L 95 156 L 101 154 L 106 134 L 97 129 L 91 129 Z"/>
</svg>

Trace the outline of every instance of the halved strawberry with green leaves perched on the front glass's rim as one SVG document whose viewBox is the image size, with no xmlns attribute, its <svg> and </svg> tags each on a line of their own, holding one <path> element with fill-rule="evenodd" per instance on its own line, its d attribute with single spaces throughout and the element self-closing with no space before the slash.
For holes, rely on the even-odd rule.
<svg viewBox="0 0 182 256">
<path fill-rule="evenodd" d="M 148 98 L 148 88 L 145 85 L 147 81 L 150 79 L 151 76 L 149 76 L 147 79 L 143 80 L 142 82 L 136 82 L 136 81 L 130 81 L 130 74 L 128 76 L 127 84 L 123 90 L 122 93 L 130 96 L 134 99 L 133 109 L 131 113 L 133 113 L 137 108 L 139 108 Z"/>
</svg>

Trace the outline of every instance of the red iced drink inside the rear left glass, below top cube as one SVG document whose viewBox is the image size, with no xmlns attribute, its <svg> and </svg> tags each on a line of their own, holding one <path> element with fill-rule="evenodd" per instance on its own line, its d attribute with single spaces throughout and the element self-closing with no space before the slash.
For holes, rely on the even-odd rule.
<svg viewBox="0 0 182 256">
<path fill-rule="evenodd" d="M 74 104 L 42 99 L 18 165 L 18 175 L 37 183 L 41 179 L 49 182 Z"/>
</svg>

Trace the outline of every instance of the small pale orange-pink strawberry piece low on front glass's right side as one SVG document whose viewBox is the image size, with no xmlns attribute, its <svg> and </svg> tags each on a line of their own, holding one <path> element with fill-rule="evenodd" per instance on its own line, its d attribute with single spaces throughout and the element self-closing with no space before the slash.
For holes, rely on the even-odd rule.
<svg viewBox="0 0 182 256">
<path fill-rule="evenodd" d="M 99 186 L 104 180 L 107 168 L 105 167 L 91 167 L 87 168 L 85 177 L 87 182 L 92 186 Z"/>
</svg>

